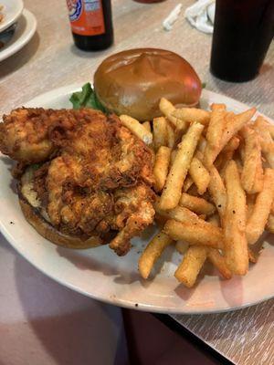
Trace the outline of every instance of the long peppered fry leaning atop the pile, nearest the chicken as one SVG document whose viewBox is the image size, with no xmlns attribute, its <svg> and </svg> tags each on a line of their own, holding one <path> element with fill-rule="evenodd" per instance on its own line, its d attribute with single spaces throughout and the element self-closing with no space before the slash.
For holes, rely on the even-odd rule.
<svg viewBox="0 0 274 365">
<path fill-rule="evenodd" d="M 193 123 L 178 145 L 174 163 L 163 187 L 160 201 L 163 210 L 172 209 L 179 203 L 184 179 L 203 129 L 202 124 Z"/>
</svg>

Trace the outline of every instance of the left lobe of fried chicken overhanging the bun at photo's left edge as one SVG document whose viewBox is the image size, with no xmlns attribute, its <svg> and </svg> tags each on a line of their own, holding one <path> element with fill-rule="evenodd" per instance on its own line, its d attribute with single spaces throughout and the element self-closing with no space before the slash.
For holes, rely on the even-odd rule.
<svg viewBox="0 0 274 365">
<path fill-rule="evenodd" d="M 57 150 L 50 140 L 52 128 L 72 129 L 86 115 L 98 116 L 97 110 L 44 110 L 18 108 L 3 116 L 0 123 L 0 151 L 17 162 L 45 162 Z"/>
</svg>

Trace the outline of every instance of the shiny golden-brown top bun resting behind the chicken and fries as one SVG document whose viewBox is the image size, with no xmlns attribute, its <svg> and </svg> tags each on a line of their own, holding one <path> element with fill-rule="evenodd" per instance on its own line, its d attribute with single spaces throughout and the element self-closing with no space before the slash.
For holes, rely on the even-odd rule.
<svg viewBox="0 0 274 365">
<path fill-rule="evenodd" d="M 174 52 L 157 48 L 130 49 L 106 58 L 94 75 L 102 105 L 118 115 L 152 120 L 161 113 L 162 97 L 194 106 L 202 90 L 194 68 Z"/>
</svg>

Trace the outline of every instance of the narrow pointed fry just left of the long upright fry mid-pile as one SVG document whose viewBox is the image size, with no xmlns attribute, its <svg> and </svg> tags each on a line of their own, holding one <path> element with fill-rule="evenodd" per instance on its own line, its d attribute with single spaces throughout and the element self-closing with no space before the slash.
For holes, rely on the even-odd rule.
<svg viewBox="0 0 274 365">
<path fill-rule="evenodd" d="M 220 214 L 221 220 L 224 219 L 226 203 L 227 203 L 227 192 L 223 180 L 214 166 L 211 167 L 210 171 L 210 182 L 208 184 L 208 191 L 212 196 L 216 208 Z"/>
</svg>

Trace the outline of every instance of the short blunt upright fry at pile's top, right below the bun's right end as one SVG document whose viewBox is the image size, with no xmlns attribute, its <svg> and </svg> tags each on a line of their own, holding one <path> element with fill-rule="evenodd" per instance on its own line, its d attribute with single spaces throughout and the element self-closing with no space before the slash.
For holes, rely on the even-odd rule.
<svg viewBox="0 0 274 365">
<path fill-rule="evenodd" d="M 224 104 L 212 104 L 211 116 L 206 131 L 206 140 L 214 148 L 218 148 L 225 128 L 227 108 Z"/>
</svg>

